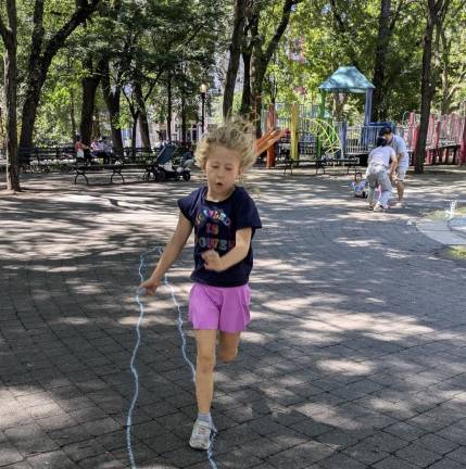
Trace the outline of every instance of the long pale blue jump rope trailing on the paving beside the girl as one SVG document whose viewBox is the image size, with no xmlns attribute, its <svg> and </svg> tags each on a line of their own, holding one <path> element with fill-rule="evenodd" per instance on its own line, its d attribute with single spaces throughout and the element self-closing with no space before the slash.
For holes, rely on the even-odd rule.
<svg viewBox="0 0 466 469">
<path fill-rule="evenodd" d="M 141 254 L 139 257 L 139 278 L 140 278 L 141 282 L 144 280 L 143 270 L 144 270 L 144 266 L 146 266 L 146 256 L 149 255 L 150 253 L 153 253 L 153 252 L 158 252 L 159 255 L 161 255 L 162 249 L 159 246 L 154 248 L 154 249 L 149 250 L 146 253 Z M 178 310 L 177 327 L 178 327 L 178 332 L 179 332 L 179 335 L 181 339 L 181 355 L 191 370 L 192 382 L 196 382 L 196 368 L 194 368 L 194 365 L 192 364 L 192 362 L 188 358 L 188 355 L 186 353 L 186 334 L 185 334 L 185 331 L 182 329 L 181 308 L 179 306 L 178 301 L 176 300 L 175 289 L 173 288 L 172 283 L 169 283 L 168 276 L 166 274 L 164 276 L 163 281 L 164 281 L 165 286 L 167 286 L 169 288 L 172 301 L 173 301 L 176 309 Z M 138 319 L 138 322 L 136 325 L 137 340 L 136 340 L 135 348 L 133 351 L 131 359 L 129 362 L 129 368 L 131 369 L 131 372 L 133 372 L 133 376 L 135 379 L 135 393 L 133 395 L 131 404 L 130 404 L 129 410 L 128 410 L 128 417 L 126 419 L 126 446 L 127 446 L 127 451 L 128 451 L 129 461 L 131 464 L 131 469 L 138 469 L 138 467 L 136 465 L 135 454 L 133 452 L 131 426 L 133 426 L 133 413 L 135 410 L 135 406 L 136 406 L 136 403 L 138 402 L 138 396 L 139 396 L 139 373 L 138 373 L 137 367 L 135 365 L 135 362 L 136 362 L 136 357 L 138 355 L 139 346 L 141 344 L 140 326 L 141 326 L 142 319 L 144 317 L 144 306 L 141 302 L 141 296 L 143 296 L 144 294 L 146 294 L 144 289 L 139 289 L 136 293 L 136 296 L 135 296 L 135 301 L 139 305 L 139 319 Z M 209 445 L 209 449 L 206 451 L 207 461 L 209 461 L 209 465 L 211 466 L 211 469 L 217 469 L 217 465 L 215 464 L 215 461 L 213 459 L 214 458 L 214 441 L 215 441 L 216 435 L 217 435 L 217 429 L 215 428 L 214 423 L 212 422 L 211 442 Z"/>
</svg>

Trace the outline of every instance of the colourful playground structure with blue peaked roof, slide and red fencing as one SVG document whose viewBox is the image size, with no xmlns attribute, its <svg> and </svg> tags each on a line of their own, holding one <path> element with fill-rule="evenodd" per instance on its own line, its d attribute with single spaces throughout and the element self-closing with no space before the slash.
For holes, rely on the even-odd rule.
<svg viewBox="0 0 466 469">
<path fill-rule="evenodd" d="M 257 141 L 257 155 L 267 152 L 267 168 L 274 167 L 277 159 L 293 165 L 305 162 L 317 165 L 323 161 L 344 164 L 357 157 L 365 165 L 380 129 L 387 126 L 403 137 L 413 160 L 419 116 L 413 112 L 405 113 L 407 118 L 401 124 L 369 122 L 374 85 L 355 67 L 338 68 L 319 86 L 319 90 L 322 99 L 318 105 L 276 103 L 261 113 L 264 134 Z M 328 92 L 365 92 L 364 123 L 349 126 L 347 122 L 333 122 L 325 110 Z M 466 116 L 430 116 L 425 163 L 466 163 Z"/>
</svg>

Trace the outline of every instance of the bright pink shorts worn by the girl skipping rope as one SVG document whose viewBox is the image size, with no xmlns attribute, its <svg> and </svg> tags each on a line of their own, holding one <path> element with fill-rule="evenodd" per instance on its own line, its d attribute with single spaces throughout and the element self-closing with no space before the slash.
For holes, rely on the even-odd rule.
<svg viewBox="0 0 466 469">
<path fill-rule="evenodd" d="M 250 319 L 250 289 L 194 283 L 189 294 L 189 320 L 194 329 L 239 332 Z"/>
</svg>

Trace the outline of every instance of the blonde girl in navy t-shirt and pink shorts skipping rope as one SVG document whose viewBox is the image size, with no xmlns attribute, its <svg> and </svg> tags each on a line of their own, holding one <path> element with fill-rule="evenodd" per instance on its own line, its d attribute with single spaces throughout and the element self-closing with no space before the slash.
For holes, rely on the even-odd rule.
<svg viewBox="0 0 466 469">
<path fill-rule="evenodd" d="M 218 358 L 231 362 L 250 321 L 251 240 L 262 225 L 253 200 L 236 181 L 256 160 L 252 126 L 230 121 L 214 129 L 199 142 L 196 160 L 207 183 L 178 201 L 180 214 L 172 240 L 140 287 L 148 294 L 155 293 L 194 228 L 189 320 L 196 332 L 198 418 L 189 444 L 207 449 L 217 335 Z"/>
</svg>

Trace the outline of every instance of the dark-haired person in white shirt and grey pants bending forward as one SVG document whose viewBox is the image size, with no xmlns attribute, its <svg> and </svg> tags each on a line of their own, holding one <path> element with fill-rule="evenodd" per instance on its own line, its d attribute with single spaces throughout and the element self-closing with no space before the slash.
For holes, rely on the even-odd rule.
<svg viewBox="0 0 466 469">
<path fill-rule="evenodd" d="M 369 186 L 367 201 L 369 210 L 386 211 L 388 201 L 391 197 L 392 186 L 390 179 L 396 168 L 398 159 L 394 150 L 388 147 L 388 141 L 383 137 L 377 139 L 377 147 L 369 153 L 367 159 L 366 179 Z M 375 203 L 376 188 L 380 188 L 377 203 Z"/>
</svg>

